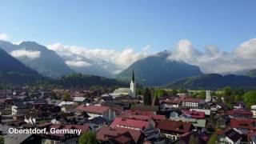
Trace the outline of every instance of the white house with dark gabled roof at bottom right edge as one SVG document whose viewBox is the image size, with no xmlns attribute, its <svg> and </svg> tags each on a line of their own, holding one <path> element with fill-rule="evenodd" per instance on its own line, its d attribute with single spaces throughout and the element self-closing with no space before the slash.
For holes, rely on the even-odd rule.
<svg viewBox="0 0 256 144">
<path fill-rule="evenodd" d="M 218 143 L 230 143 L 230 144 L 238 144 L 241 143 L 241 134 L 239 134 L 236 130 L 230 129 L 224 132 L 218 132 Z"/>
</svg>

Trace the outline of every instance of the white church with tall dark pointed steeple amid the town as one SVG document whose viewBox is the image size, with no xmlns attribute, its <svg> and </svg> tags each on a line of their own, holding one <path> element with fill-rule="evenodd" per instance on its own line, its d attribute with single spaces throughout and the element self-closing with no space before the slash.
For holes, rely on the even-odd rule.
<svg viewBox="0 0 256 144">
<path fill-rule="evenodd" d="M 114 90 L 114 95 L 129 95 L 130 97 L 136 97 L 136 82 L 134 77 L 134 70 L 133 75 L 130 80 L 130 88 L 123 88 L 120 87 L 117 90 Z"/>
</svg>

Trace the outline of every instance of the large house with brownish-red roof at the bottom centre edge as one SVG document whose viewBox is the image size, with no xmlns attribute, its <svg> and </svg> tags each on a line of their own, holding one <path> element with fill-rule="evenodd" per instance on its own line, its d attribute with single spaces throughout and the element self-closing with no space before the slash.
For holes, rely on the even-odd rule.
<svg viewBox="0 0 256 144">
<path fill-rule="evenodd" d="M 144 134 L 138 130 L 125 129 L 122 127 L 103 127 L 97 133 L 97 139 L 102 143 L 111 143 L 113 138 L 116 138 L 114 143 L 142 144 L 144 141 Z"/>
</svg>

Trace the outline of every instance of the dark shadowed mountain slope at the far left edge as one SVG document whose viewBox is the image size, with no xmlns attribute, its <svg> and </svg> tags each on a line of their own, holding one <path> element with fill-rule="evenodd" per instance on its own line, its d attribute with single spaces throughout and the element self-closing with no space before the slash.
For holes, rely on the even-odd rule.
<svg viewBox="0 0 256 144">
<path fill-rule="evenodd" d="M 0 48 L 0 83 L 25 84 L 42 80 L 37 71 L 26 67 L 22 62 L 7 54 Z"/>
</svg>

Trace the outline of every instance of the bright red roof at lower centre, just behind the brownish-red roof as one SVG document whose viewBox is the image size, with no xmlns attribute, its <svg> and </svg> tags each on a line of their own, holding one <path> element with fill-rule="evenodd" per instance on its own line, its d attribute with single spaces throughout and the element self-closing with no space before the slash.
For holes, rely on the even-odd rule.
<svg viewBox="0 0 256 144">
<path fill-rule="evenodd" d="M 138 129 L 145 129 L 147 126 L 150 125 L 150 122 L 142 121 L 142 120 L 135 120 L 129 118 L 115 118 L 114 122 L 111 123 L 110 127 L 120 127 L 120 126 L 129 126 Z"/>
</svg>

